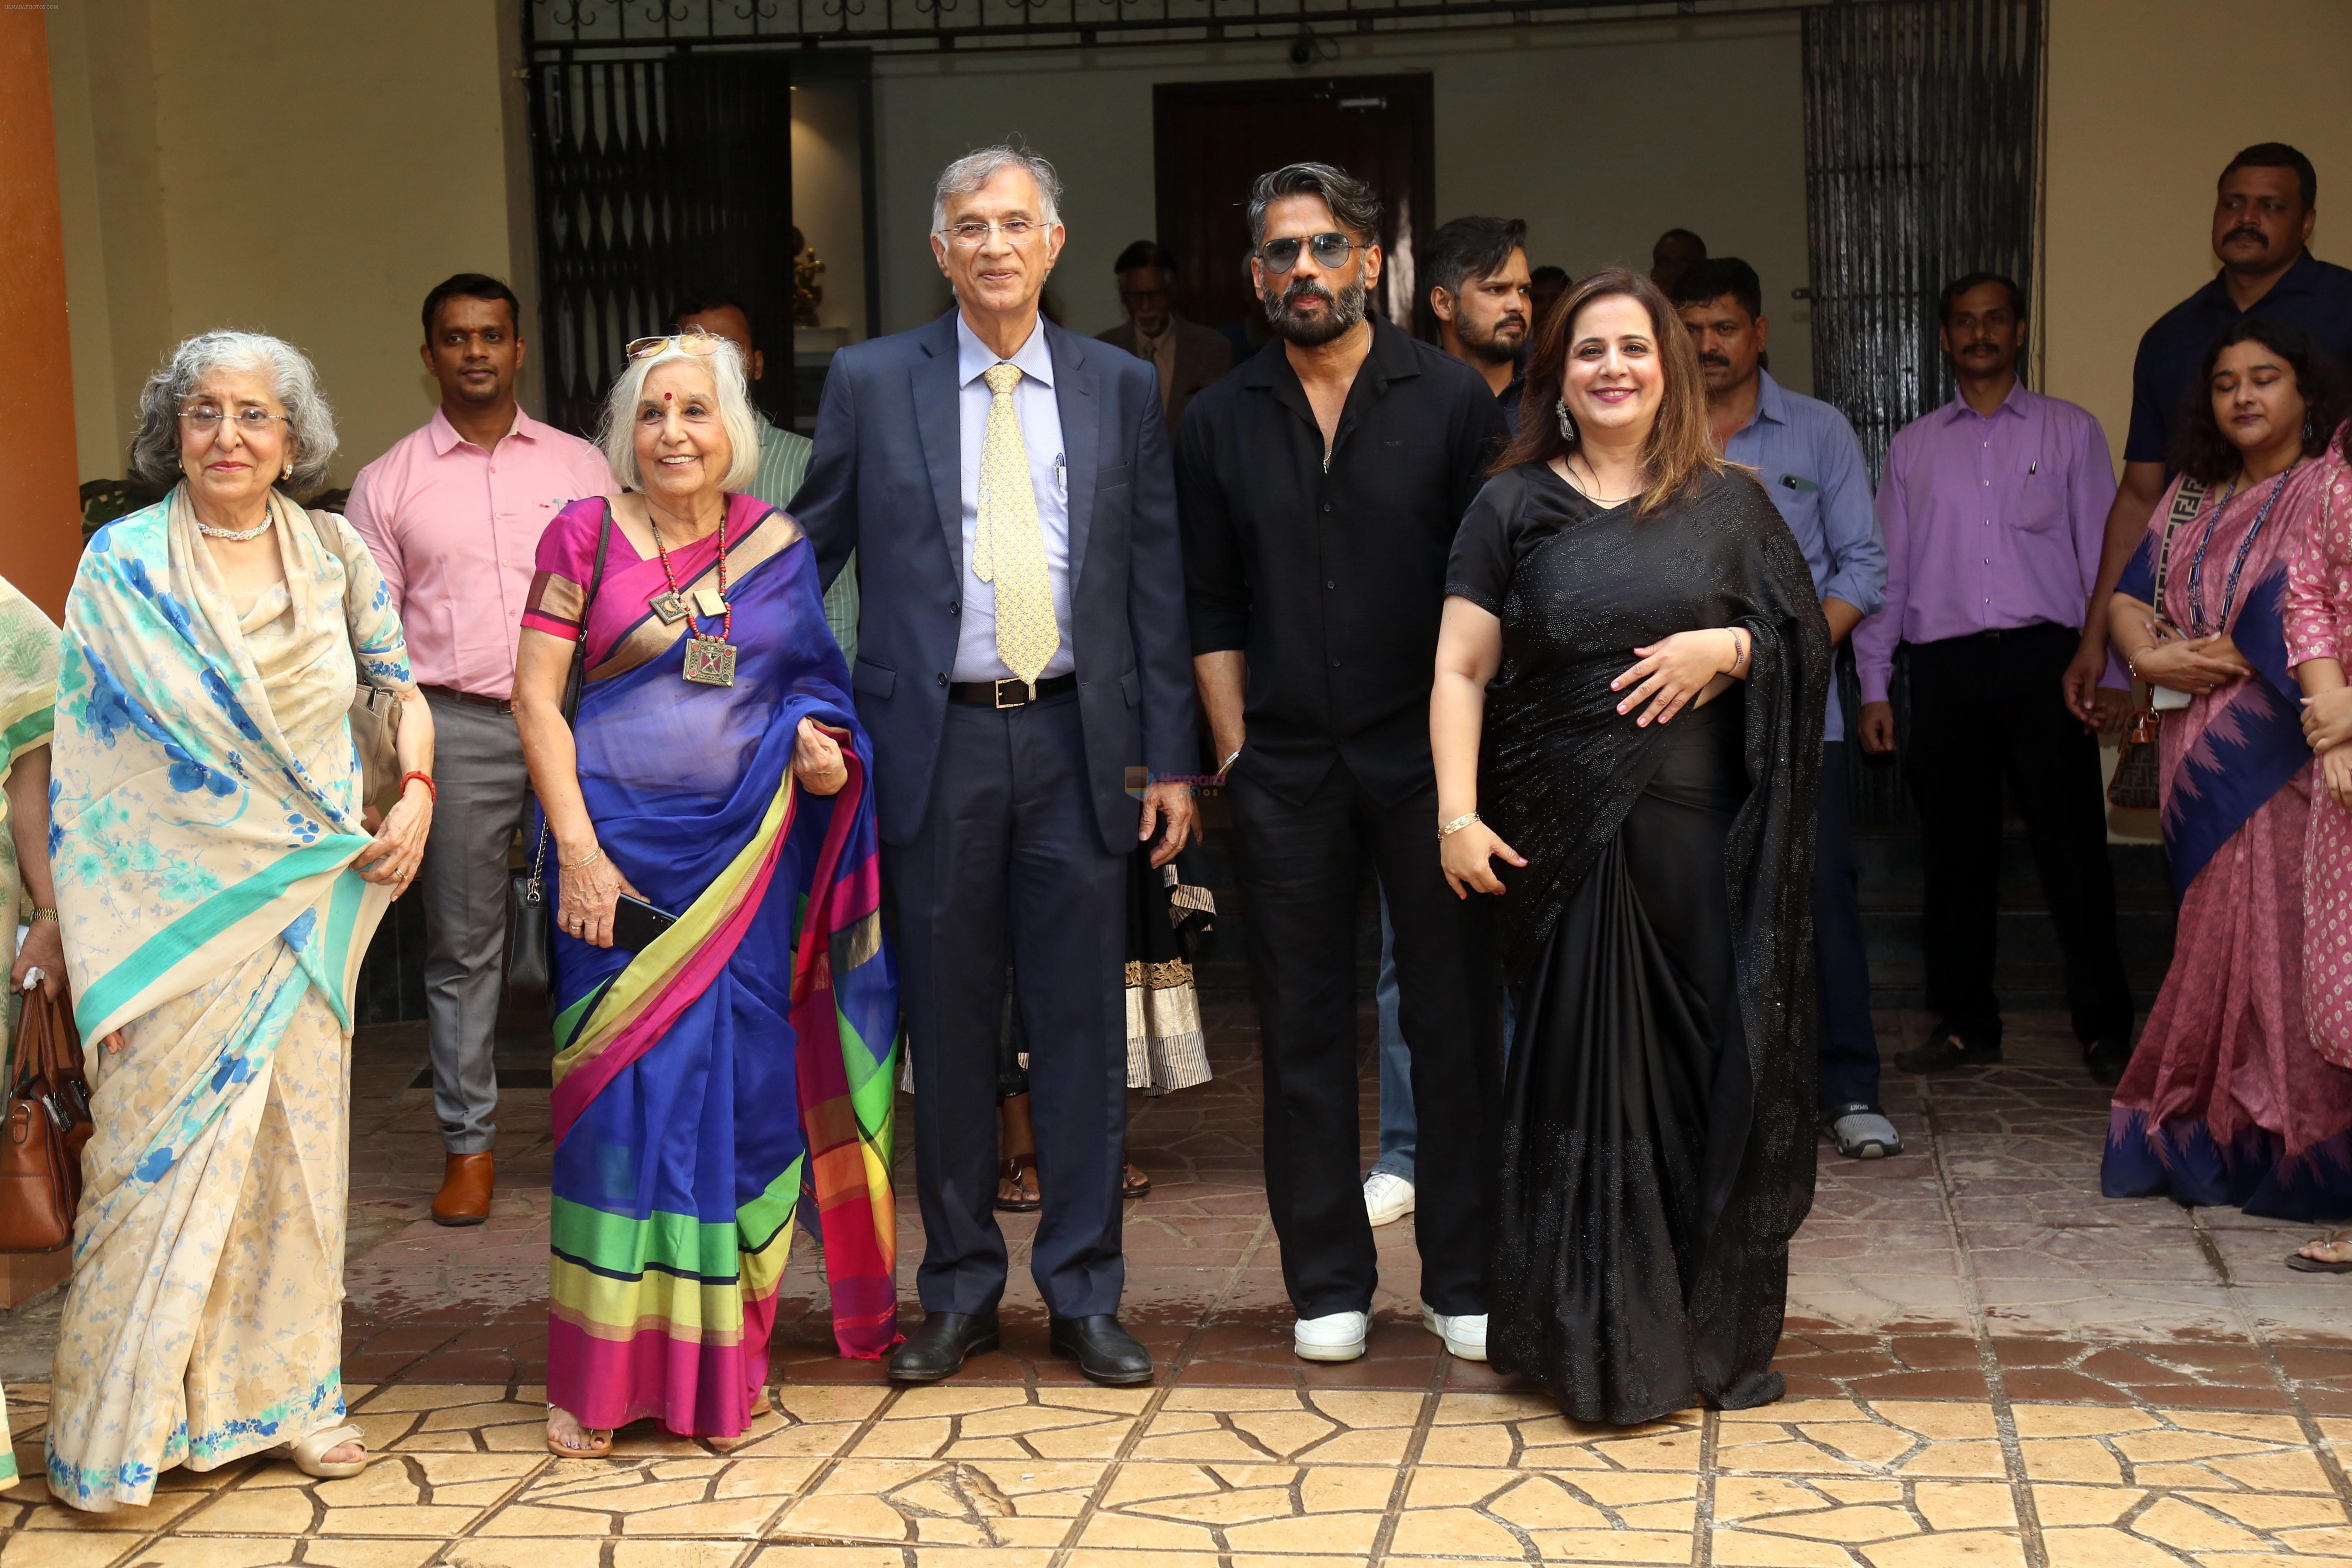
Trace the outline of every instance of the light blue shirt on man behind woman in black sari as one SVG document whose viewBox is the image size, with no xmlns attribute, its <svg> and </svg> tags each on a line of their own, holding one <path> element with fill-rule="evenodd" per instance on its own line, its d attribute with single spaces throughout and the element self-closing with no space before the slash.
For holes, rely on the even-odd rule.
<svg viewBox="0 0 2352 1568">
<path fill-rule="evenodd" d="M 1766 369 L 1757 371 L 1757 416 L 1724 444 L 1724 456 L 1757 470 L 1804 550 L 1813 592 L 1870 616 L 1886 597 L 1886 541 L 1870 501 L 1863 444 L 1846 416 L 1818 397 L 1790 393 Z M 1846 715 L 1832 701 L 1823 738 L 1844 736 Z"/>
</svg>

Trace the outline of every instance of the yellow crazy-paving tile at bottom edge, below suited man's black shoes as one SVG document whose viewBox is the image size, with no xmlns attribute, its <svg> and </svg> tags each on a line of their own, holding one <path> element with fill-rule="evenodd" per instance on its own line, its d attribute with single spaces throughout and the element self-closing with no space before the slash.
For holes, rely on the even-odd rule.
<svg viewBox="0 0 2352 1568">
<path fill-rule="evenodd" d="M 1101 1486 L 1101 1462 L 840 1460 L 771 1540 L 1058 1547 Z"/>
</svg>

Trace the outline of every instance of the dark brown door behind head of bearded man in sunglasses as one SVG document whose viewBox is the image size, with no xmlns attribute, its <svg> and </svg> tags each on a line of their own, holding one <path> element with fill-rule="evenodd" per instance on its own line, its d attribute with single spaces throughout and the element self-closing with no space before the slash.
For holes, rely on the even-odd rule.
<svg viewBox="0 0 2352 1568">
<path fill-rule="evenodd" d="M 1411 329 L 1414 247 L 1435 228 L 1435 141 L 1428 75 L 1152 87 L 1160 244 L 1176 256 L 1176 308 L 1221 329 L 1265 320 L 1247 270 L 1249 183 L 1312 160 L 1369 179 L 1381 193 L 1383 275 L 1374 306 Z"/>
</svg>

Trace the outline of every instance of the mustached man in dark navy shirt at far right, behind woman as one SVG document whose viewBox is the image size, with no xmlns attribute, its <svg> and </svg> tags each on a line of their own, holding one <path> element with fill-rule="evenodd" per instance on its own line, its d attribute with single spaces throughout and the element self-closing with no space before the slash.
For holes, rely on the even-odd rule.
<svg viewBox="0 0 2352 1568">
<path fill-rule="evenodd" d="M 2126 693 L 2107 689 L 2107 599 L 2147 531 L 2147 517 L 2171 480 L 2164 458 L 2187 409 L 2190 383 L 2206 348 L 2246 315 L 2277 315 L 2312 334 L 2312 343 L 2352 364 L 2352 268 L 2310 252 L 2319 219 L 2319 174 L 2284 141 L 2258 141 L 2230 160 L 2213 190 L 2213 256 L 2220 273 L 2157 317 L 2131 362 L 2131 430 L 2124 482 L 2107 510 L 2098 583 L 2084 607 L 2082 644 L 2065 668 L 2067 708 L 2084 724 L 2114 729 Z"/>
</svg>

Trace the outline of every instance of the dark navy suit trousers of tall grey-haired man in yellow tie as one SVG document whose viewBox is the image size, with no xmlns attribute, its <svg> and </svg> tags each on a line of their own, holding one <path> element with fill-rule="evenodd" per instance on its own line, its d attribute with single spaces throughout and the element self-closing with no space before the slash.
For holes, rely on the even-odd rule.
<svg viewBox="0 0 2352 1568">
<path fill-rule="evenodd" d="M 1054 1316 L 1120 1309 L 1127 1143 L 1127 856 L 1103 849 L 1077 696 L 948 703 L 915 842 L 882 849 L 915 1072 L 924 1312 L 990 1312 L 1007 964 L 1030 1051 L 1044 1211 L 1030 1274 Z M 1357 1204 L 1362 1208 L 1362 1204 Z"/>
</svg>

